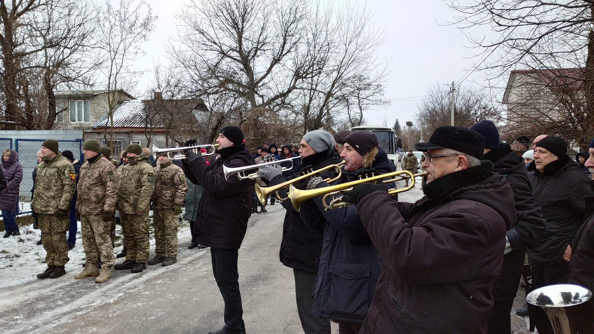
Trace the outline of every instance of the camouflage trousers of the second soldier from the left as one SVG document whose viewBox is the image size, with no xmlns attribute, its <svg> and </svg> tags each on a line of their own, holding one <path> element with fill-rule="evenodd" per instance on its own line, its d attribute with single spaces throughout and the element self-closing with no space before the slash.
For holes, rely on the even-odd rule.
<svg viewBox="0 0 594 334">
<path fill-rule="evenodd" d="M 99 263 L 112 267 L 115 263 L 109 231 L 111 222 L 104 222 L 103 215 L 81 215 L 84 254 L 89 264 Z"/>
</svg>

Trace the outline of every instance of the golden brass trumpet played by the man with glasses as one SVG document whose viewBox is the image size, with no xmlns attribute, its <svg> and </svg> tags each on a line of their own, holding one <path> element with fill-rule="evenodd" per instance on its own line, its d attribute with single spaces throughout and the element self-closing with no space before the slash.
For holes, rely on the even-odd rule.
<svg viewBox="0 0 594 334">
<path fill-rule="evenodd" d="M 397 175 L 403 175 L 403 174 L 404 174 L 404 176 L 402 176 L 402 177 L 396 177 Z M 353 187 L 355 187 L 356 185 L 363 184 L 366 182 L 377 182 L 377 181 L 380 181 L 382 183 L 391 183 L 391 182 L 401 181 L 403 179 L 410 178 L 410 185 L 408 187 L 404 187 L 404 188 L 400 188 L 400 189 L 397 189 L 397 188 L 388 189 L 388 195 L 390 195 L 390 197 L 393 197 L 393 196 L 396 196 L 396 194 L 411 190 L 412 187 L 415 185 L 415 177 L 420 177 L 420 176 L 424 176 L 424 175 L 426 175 L 426 172 L 422 172 L 419 174 L 412 174 L 409 171 L 396 171 L 396 172 L 386 173 L 386 174 L 382 174 L 382 175 L 372 175 L 371 177 L 368 177 L 368 178 L 357 179 L 355 181 L 350 181 L 350 182 L 346 182 L 343 184 L 330 185 L 330 187 L 317 188 L 317 189 L 312 189 L 312 190 L 299 190 L 299 189 L 295 188 L 294 185 L 290 185 L 289 186 L 289 198 L 291 200 L 291 203 L 293 203 L 293 208 L 296 211 L 299 211 L 299 207 L 301 206 L 301 203 L 303 203 L 304 201 L 311 200 L 312 198 L 315 198 L 318 196 L 324 196 L 322 198 L 322 203 L 323 203 L 326 211 L 328 211 L 331 209 L 339 209 L 340 207 L 347 207 L 349 205 L 352 205 L 352 203 L 347 203 L 345 201 L 341 201 L 342 196 L 340 196 L 338 198 L 334 198 L 334 197 L 336 195 L 346 194 L 347 192 L 352 190 Z M 396 177 L 396 178 L 392 178 L 392 177 Z M 385 178 L 390 178 L 390 179 L 383 180 Z M 328 204 L 328 203 L 326 203 L 326 200 L 330 196 L 333 197 L 333 200 L 331 200 L 330 203 Z"/>
</svg>

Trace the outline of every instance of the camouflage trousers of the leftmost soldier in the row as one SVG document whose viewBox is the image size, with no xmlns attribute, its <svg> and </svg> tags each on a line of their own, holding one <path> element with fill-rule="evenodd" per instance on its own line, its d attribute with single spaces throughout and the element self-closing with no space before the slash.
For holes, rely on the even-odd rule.
<svg viewBox="0 0 594 334">
<path fill-rule="evenodd" d="M 64 266 L 68 263 L 68 244 L 66 231 L 70 228 L 68 217 L 58 218 L 55 213 L 40 213 L 37 225 L 41 230 L 41 242 L 46 251 L 45 263 L 48 266 Z"/>
</svg>

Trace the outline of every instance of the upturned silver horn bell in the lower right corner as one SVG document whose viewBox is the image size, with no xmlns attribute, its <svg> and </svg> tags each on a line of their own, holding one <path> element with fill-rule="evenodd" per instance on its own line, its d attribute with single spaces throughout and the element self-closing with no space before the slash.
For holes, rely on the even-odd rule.
<svg viewBox="0 0 594 334">
<path fill-rule="evenodd" d="M 565 311 L 568 307 L 585 303 L 590 298 L 592 298 L 592 291 L 583 286 L 555 284 L 530 292 L 526 296 L 526 301 L 545 310 L 555 334 L 571 334 Z"/>
</svg>

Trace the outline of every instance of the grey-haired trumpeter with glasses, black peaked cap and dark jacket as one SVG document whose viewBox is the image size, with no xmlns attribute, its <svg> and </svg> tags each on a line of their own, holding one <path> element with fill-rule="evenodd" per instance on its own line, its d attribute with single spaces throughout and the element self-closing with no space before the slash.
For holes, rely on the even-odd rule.
<svg viewBox="0 0 594 334">
<path fill-rule="evenodd" d="M 384 184 L 343 197 L 357 203 L 384 260 L 361 333 L 487 333 L 516 212 L 505 178 L 479 160 L 484 143 L 475 131 L 448 126 L 415 144 L 427 152 L 428 173 L 415 203 L 394 201 Z"/>
</svg>

